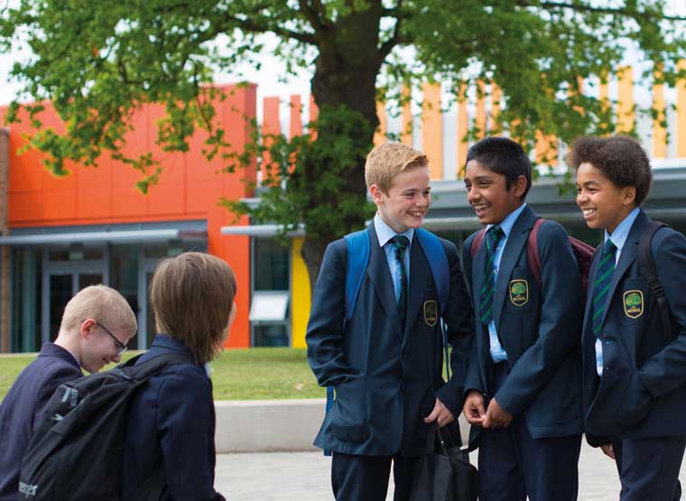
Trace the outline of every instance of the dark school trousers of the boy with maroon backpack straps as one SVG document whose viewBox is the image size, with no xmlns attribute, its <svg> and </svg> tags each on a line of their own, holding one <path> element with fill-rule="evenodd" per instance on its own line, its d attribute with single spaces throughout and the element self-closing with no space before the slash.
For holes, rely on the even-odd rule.
<svg viewBox="0 0 686 501">
<path fill-rule="evenodd" d="M 492 369 L 493 394 L 505 383 L 506 362 Z M 480 501 L 574 501 L 579 492 L 581 435 L 534 439 L 524 415 L 507 428 L 481 431 Z"/>
</svg>

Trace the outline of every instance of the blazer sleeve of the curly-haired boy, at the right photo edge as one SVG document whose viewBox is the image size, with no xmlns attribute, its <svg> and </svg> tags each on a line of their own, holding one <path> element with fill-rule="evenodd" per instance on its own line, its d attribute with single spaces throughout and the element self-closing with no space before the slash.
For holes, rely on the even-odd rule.
<svg viewBox="0 0 686 501">
<path fill-rule="evenodd" d="M 679 323 L 679 333 L 671 343 L 653 357 L 644 361 L 637 376 L 648 391 L 659 397 L 686 383 L 686 294 L 683 280 L 686 276 L 686 238 L 672 229 L 655 234 L 652 243 L 655 270 L 663 286 L 664 295 L 672 313 Z M 646 332 L 646 336 L 663 337 L 662 330 Z"/>
</svg>

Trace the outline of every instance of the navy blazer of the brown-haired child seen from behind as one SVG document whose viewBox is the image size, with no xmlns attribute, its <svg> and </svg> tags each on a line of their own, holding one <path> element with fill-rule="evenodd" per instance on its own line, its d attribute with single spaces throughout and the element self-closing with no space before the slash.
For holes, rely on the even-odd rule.
<svg viewBox="0 0 686 501">
<path fill-rule="evenodd" d="M 193 358 L 181 341 L 158 334 L 136 365 L 162 353 Z M 204 366 L 168 366 L 136 392 L 124 444 L 122 498 L 134 499 L 155 468 L 164 464 L 162 499 L 223 500 L 214 490 L 215 412 Z"/>
</svg>

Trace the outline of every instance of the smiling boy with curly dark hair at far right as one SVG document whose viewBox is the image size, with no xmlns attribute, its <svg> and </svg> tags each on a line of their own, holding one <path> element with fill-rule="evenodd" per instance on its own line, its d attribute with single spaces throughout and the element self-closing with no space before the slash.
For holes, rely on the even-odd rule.
<svg viewBox="0 0 686 501">
<path fill-rule="evenodd" d="M 587 440 L 616 459 L 622 501 L 679 499 L 686 445 L 686 239 L 663 227 L 650 246 L 672 317 L 668 339 L 638 255 L 652 223 L 640 209 L 653 180 L 647 155 L 626 136 L 584 137 L 572 145 L 570 164 L 586 224 L 604 232 L 589 272 L 582 339 Z"/>
</svg>

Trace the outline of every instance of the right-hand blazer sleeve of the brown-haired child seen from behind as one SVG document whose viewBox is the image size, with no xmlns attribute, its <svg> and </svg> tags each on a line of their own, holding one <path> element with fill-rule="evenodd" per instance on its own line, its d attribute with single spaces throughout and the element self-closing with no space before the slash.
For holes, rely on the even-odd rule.
<svg viewBox="0 0 686 501">
<path fill-rule="evenodd" d="M 214 490 L 212 386 L 198 366 L 165 376 L 157 405 L 157 429 L 167 488 L 172 499 L 221 501 Z"/>
</svg>

